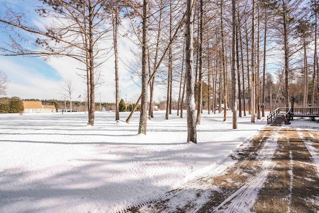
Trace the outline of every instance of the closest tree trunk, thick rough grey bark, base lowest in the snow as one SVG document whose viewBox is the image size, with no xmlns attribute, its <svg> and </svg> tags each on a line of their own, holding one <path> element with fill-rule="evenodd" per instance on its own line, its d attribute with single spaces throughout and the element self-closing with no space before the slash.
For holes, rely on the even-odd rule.
<svg viewBox="0 0 319 213">
<path fill-rule="evenodd" d="M 197 143 L 194 77 L 193 77 L 193 21 L 194 10 L 192 0 L 187 0 L 186 9 L 186 103 L 187 103 L 187 142 Z"/>
</svg>

